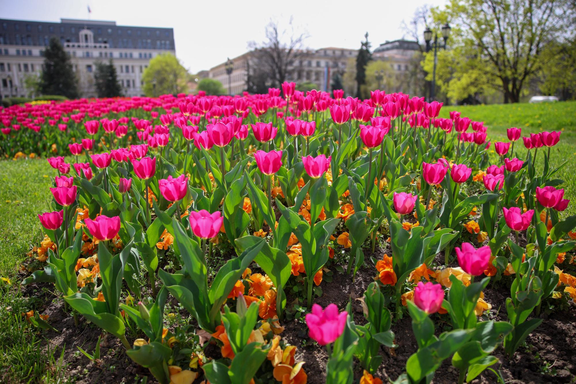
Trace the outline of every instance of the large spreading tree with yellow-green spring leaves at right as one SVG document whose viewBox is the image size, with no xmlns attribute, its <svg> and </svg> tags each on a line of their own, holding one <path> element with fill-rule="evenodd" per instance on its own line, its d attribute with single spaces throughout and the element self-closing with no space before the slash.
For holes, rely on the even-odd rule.
<svg viewBox="0 0 576 384">
<path fill-rule="evenodd" d="M 520 101 L 530 80 L 547 64 L 545 44 L 574 34 L 573 18 L 566 17 L 572 8 L 570 0 L 450 0 L 445 10 L 433 10 L 435 22 L 450 21 L 453 27 L 452 54 L 444 54 L 442 62 L 439 58 L 437 81 L 438 70 L 448 66 L 457 79 L 445 79 L 448 94 L 482 92 L 487 85 L 497 87 L 504 102 Z M 433 60 L 431 55 L 426 55 L 426 63 Z"/>
</svg>

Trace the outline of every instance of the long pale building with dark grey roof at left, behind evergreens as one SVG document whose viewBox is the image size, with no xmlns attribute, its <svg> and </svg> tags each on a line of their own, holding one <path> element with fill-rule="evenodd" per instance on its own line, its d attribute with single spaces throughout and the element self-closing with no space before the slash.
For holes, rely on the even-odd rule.
<svg viewBox="0 0 576 384">
<path fill-rule="evenodd" d="M 26 79 L 39 77 L 44 50 L 56 37 L 70 56 L 81 97 L 95 97 L 98 61 L 112 59 L 124 96 L 141 96 L 150 59 L 176 55 L 172 28 L 116 25 L 114 21 L 61 19 L 41 22 L 0 19 L 0 97 L 28 97 Z"/>
</svg>

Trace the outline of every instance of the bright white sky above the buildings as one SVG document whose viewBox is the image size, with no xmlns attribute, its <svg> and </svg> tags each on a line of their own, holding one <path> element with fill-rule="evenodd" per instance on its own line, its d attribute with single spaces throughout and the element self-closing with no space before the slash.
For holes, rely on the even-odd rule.
<svg viewBox="0 0 576 384">
<path fill-rule="evenodd" d="M 422 5 L 446 0 L 0 0 L 0 17 L 55 21 L 88 17 L 118 25 L 174 28 L 176 56 L 191 73 L 210 69 L 229 56 L 241 55 L 249 41 L 264 40 L 271 19 L 307 32 L 310 48 L 359 48 L 369 33 L 372 48 L 385 40 L 408 37 L 401 29 Z"/>
</svg>

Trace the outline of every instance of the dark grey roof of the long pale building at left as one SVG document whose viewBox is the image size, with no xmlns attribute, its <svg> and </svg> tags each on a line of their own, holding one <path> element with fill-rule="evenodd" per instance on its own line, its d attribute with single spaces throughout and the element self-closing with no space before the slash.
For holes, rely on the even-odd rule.
<svg viewBox="0 0 576 384">
<path fill-rule="evenodd" d="M 62 18 L 60 22 L 0 19 L 0 44 L 48 45 L 51 37 L 60 42 L 80 43 L 79 31 L 89 29 L 94 43 L 110 48 L 174 50 L 174 30 L 150 26 L 116 25 L 115 21 Z"/>
</svg>

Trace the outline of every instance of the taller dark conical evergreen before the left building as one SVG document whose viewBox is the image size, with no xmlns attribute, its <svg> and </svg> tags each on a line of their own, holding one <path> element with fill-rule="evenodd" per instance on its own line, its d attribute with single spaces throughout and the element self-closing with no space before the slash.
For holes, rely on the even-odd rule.
<svg viewBox="0 0 576 384">
<path fill-rule="evenodd" d="M 78 97 L 78 79 L 72 70 L 70 58 L 62 44 L 52 37 L 44 51 L 44 70 L 40 90 L 43 94 L 56 94 L 68 98 Z"/>
</svg>

